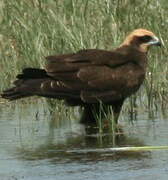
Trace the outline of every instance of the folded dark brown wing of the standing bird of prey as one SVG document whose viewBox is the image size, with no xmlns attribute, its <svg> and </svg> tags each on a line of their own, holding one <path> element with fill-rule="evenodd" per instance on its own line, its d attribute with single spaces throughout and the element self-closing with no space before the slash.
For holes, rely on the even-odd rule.
<svg viewBox="0 0 168 180">
<path fill-rule="evenodd" d="M 88 103 L 119 99 L 127 84 L 131 84 L 128 81 L 132 74 L 128 71 L 136 64 L 134 59 L 137 58 L 129 56 L 129 52 L 126 48 L 116 51 L 90 49 L 49 56 L 45 70 L 53 80 L 45 82 L 43 89 Z"/>
</svg>

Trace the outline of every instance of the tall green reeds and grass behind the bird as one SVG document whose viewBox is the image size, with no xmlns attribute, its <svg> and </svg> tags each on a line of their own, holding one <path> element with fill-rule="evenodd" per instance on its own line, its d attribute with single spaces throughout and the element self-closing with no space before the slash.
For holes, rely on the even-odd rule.
<svg viewBox="0 0 168 180">
<path fill-rule="evenodd" d="M 128 32 L 143 27 L 159 36 L 163 48 L 150 51 L 147 78 L 136 99 L 149 109 L 157 109 L 158 102 L 165 106 L 168 91 L 166 2 L 1 0 L 0 89 L 8 87 L 22 68 L 42 67 L 44 57 L 49 54 L 84 48 L 110 50 L 117 47 Z M 126 111 L 136 108 L 132 99 L 125 104 Z"/>
</svg>

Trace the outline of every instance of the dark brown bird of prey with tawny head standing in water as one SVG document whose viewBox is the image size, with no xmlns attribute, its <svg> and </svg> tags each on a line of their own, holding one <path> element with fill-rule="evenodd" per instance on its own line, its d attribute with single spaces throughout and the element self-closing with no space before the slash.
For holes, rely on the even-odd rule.
<svg viewBox="0 0 168 180">
<path fill-rule="evenodd" d="M 3 91 L 2 97 L 15 100 L 37 95 L 65 100 L 68 105 L 84 107 L 81 122 L 94 122 L 102 103 L 112 106 L 117 122 L 124 100 L 144 81 L 147 51 L 153 45 L 161 45 L 154 33 L 136 29 L 112 51 L 86 49 L 48 56 L 44 69 L 23 69 L 15 86 Z"/>
</svg>

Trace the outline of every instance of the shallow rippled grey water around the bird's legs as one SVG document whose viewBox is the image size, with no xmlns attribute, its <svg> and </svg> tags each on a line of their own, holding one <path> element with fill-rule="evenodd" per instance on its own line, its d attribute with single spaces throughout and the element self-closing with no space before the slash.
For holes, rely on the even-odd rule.
<svg viewBox="0 0 168 180">
<path fill-rule="evenodd" d="M 83 125 L 42 101 L 0 106 L 0 180 L 167 180 L 168 150 L 88 152 L 97 148 L 168 145 L 168 118 L 138 115 L 114 138 L 86 134 Z M 69 119 L 70 118 L 70 119 Z M 73 151 L 74 150 L 74 151 Z M 80 151 L 82 150 L 82 152 Z"/>
</svg>

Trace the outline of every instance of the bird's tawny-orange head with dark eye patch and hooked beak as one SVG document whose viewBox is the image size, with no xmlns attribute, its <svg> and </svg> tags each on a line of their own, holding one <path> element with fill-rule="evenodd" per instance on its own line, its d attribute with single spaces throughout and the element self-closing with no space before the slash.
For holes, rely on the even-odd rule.
<svg viewBox="0 0 168 180">
<path fill-rule="evenodd" d="M 161 46 L 156 35 L 146 29 L 136 29 L 131 32 L 122 43 L 122 46 L 136 46 L 140 51 L 147 52 L 150 46 Z"/>
</svg>

